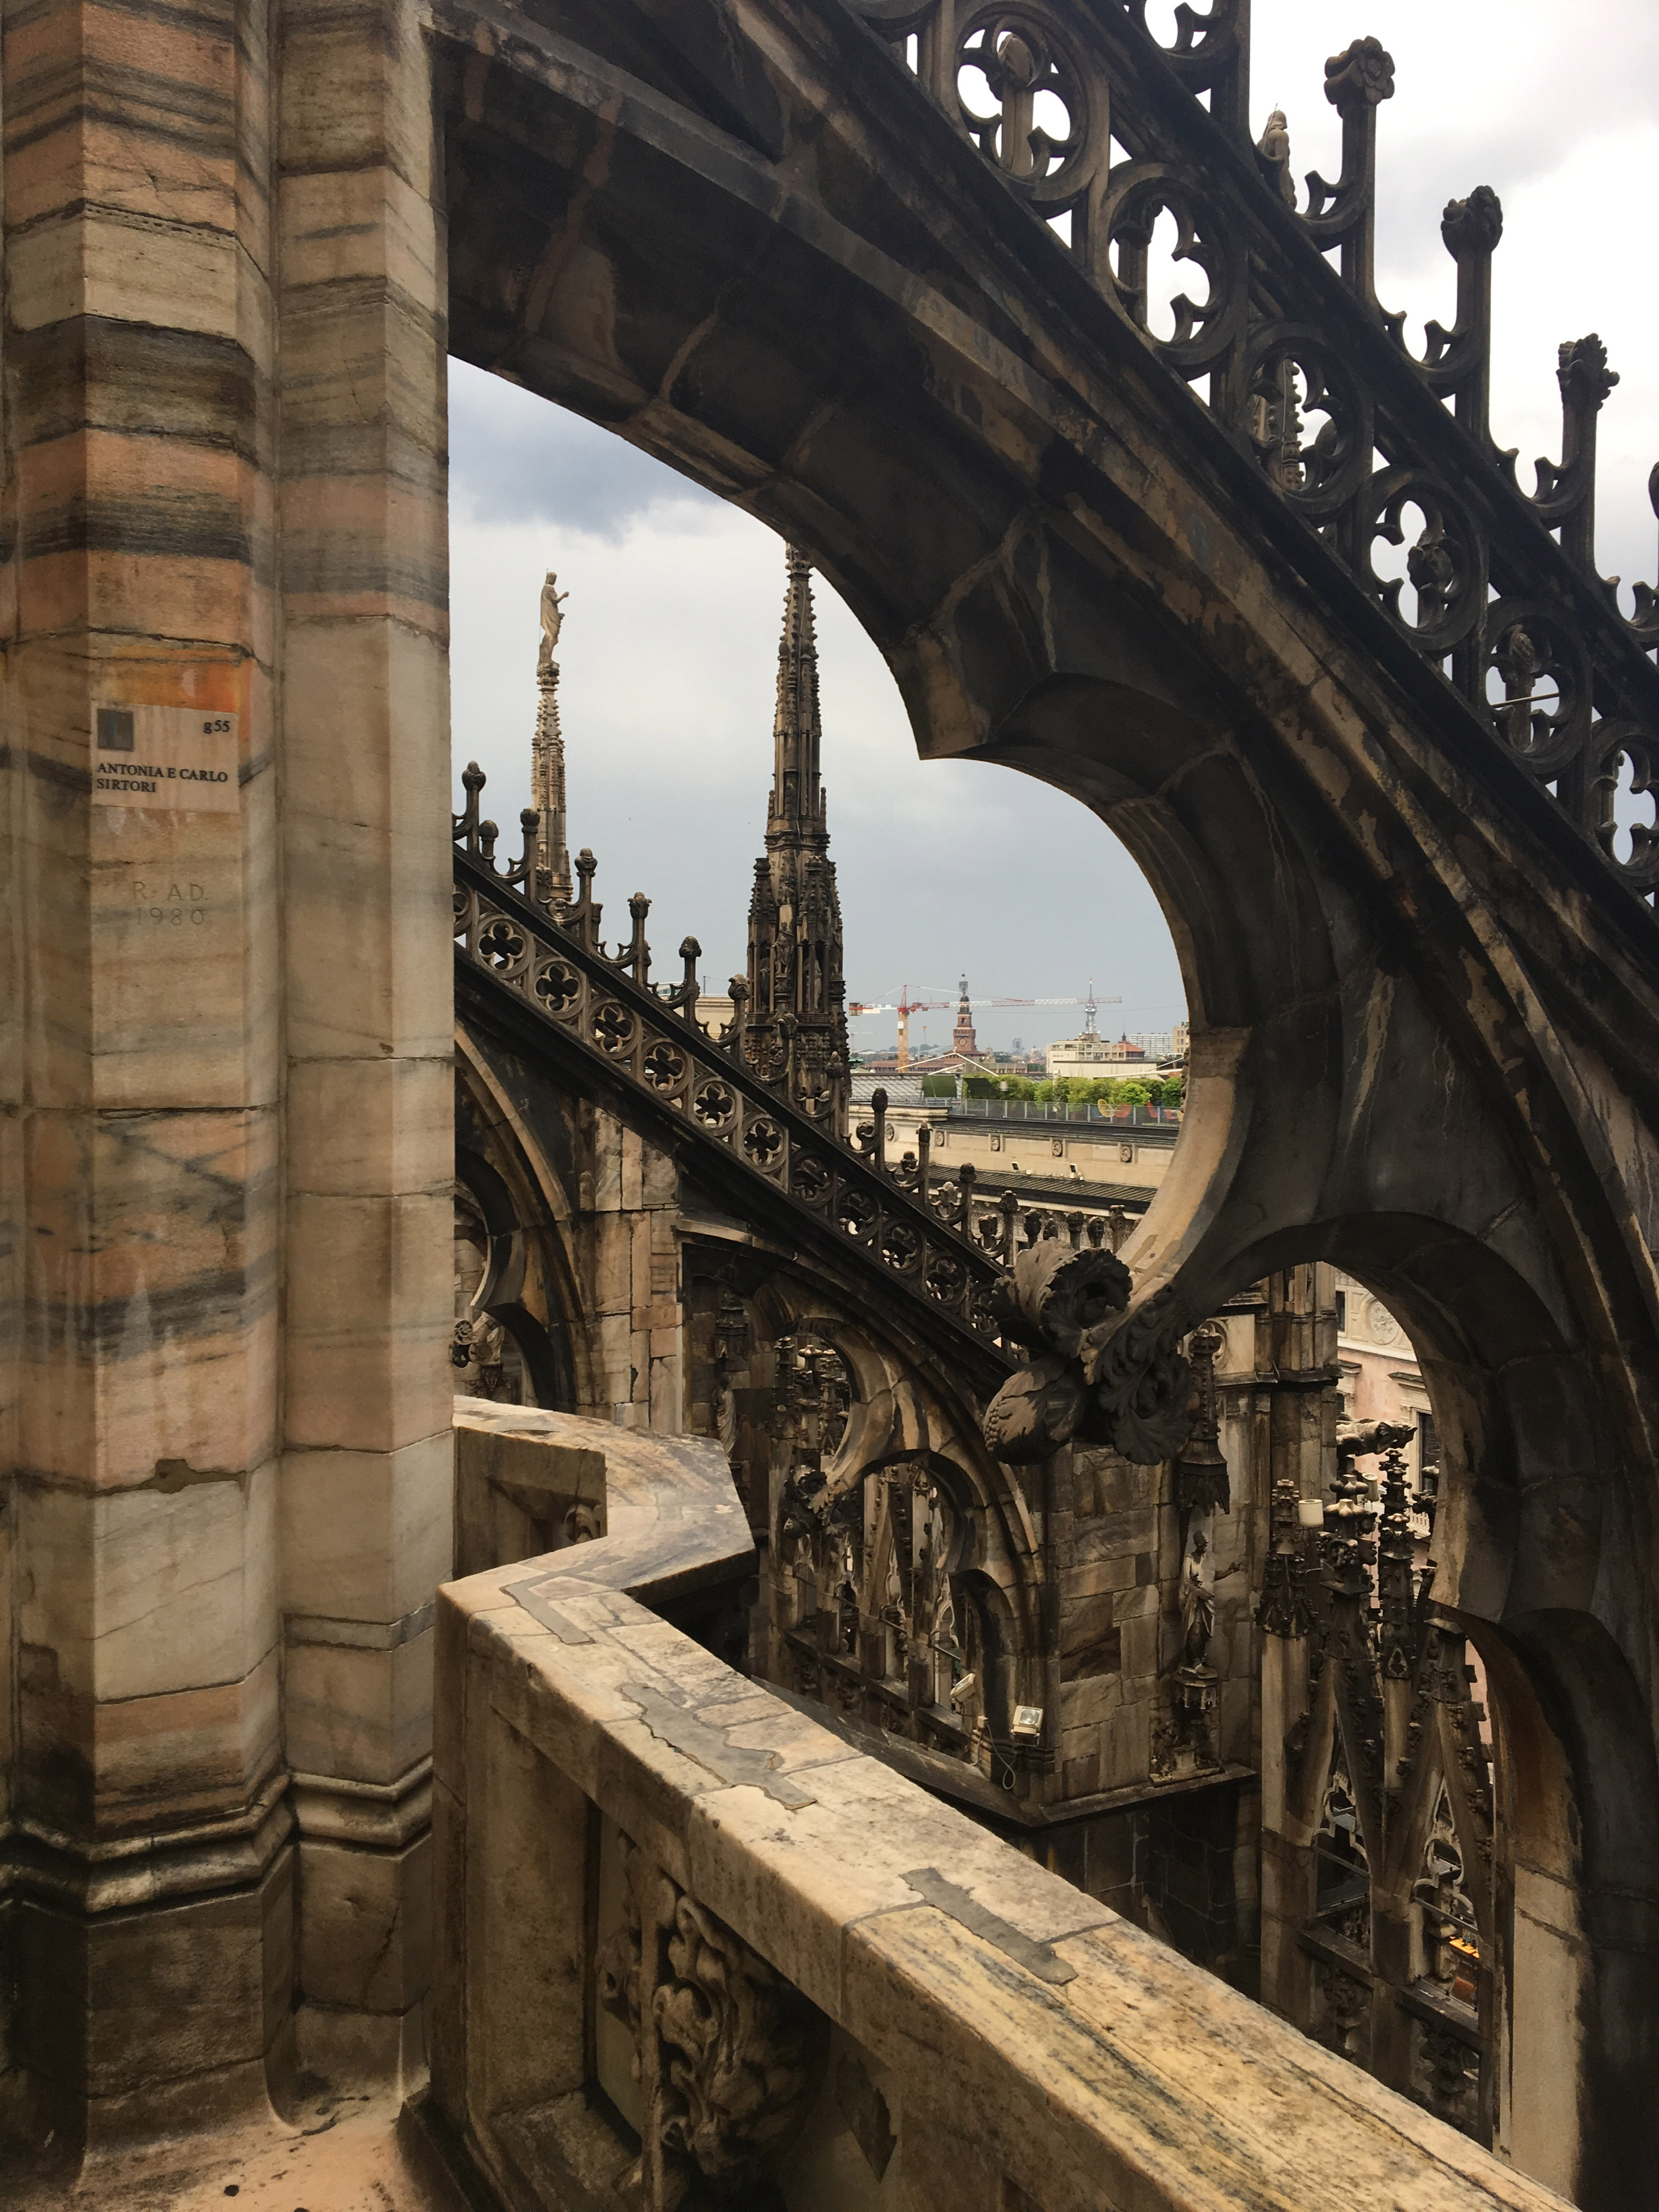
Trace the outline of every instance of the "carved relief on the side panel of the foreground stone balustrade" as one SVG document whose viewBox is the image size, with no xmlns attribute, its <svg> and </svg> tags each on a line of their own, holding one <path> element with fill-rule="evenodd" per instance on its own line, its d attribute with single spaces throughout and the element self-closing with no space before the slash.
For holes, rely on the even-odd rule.
<svg viewBox="0 0 1659 2212">
<path fill-rule="evenodd" d="M 818 2088 L 823 2015 L 695 1898 L 675 1907 L 653 1997 L 664 2059 L 661 2139 L 737 2203 Z"/>
</svg>

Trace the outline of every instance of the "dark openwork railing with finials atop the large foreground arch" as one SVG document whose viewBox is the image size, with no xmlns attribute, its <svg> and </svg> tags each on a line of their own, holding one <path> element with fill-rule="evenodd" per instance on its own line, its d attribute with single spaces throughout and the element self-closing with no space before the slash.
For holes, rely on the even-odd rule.
<svg viewBox="0 0 1659 2212">
<path fill-rule="evenodd" d="M 1562 458 L 1528 495 L 1493 442 L 1491 261 L 1502 208 L 1453 199 L 1451 330 L 1374 283 L 1376 111 L 1394 62 L 1360 38 L 1325 64 L 1343 170 L 1298 197 L 1290 131 L 1250 126 L 1250 0 L 1177 7 L 1172 46 L 1146 0 L 849 0 L 927 91 L 1057 228 L 1104 299 L 1208 403 L 1263 478 L 1332 549 L 1394 628 L 1553 792 L 1639 898 L 1659 885 L 1659 832 L 1615 792 L 1659 790 L 1659 597 L 1595 566 L 1595 431 L 1617 383 L 1597 336 L 1559 349 Z M 1208 102 L 1208 111 L 1206 104 Z M 1155 296 L 1159 221 L 1201 285 Z M 1338 257 L 1338 270 L 1327 254 Z M 1659 507 L 1659 469 L 1648 493 Z"/>
</svg>

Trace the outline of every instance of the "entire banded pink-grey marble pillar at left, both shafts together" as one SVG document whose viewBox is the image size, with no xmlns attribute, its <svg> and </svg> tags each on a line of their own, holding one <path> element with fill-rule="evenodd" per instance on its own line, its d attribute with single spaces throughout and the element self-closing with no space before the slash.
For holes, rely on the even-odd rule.
<svg viewBox="0 0 1659 2212">
<path fill-rule="evenodd" d="M 445 272 L 396 0 L 0 29 L 0 2135 L 73 2157 L 422 2057 Z"/>
</svg>

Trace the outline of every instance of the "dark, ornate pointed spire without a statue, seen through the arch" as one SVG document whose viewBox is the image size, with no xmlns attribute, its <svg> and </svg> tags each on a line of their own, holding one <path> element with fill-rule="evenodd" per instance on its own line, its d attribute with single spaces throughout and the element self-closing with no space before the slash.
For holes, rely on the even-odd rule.
<svg viewBox="0 0 1659 2212">
<path fill-rule="evenodd" d="M 847 1119 L 847 1013 L 841 980 L 841 898 L 827 858 L 818 781 L 818 646 L 812 571 L 790 546 L 772 721 L 765 854 L 750 896 L 743 1053 L 794 1106 L 836 1130 Z"/>
</svg>

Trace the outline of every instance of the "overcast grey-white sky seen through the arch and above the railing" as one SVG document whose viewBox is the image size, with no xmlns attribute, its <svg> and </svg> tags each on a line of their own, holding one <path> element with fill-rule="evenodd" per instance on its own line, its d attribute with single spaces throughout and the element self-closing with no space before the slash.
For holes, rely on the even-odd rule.
<svg viewBox="0 0 1659 2212">
<path fill-rule="evenodd" d="M 1166 29 L 1172 0 L 1152 0 Z M 1159 22 L 1161 18 L 1161 22 Z M 1290 117 L 1292 168 L 1334 177 L 1325 55 L 1376 31 L 1394 53 L 1380 113 L 1378 294 L 1451 323 L 1440 210 L 1475 184 L 1504 204 L 1495 259 L 1493 431 L 1559 456 L 1555 347 L 1597 330 L 1619 389 L 1601 414 L 1599 562 L 1655 577 L 1646 495 L 1659 460 L 1659 285 L 1648 237 L 1659 177 L 1659 0 L 1254 0 L 1252 113 Z M 1635 248 L 1632 248 L 1635 239 Z M 1646 270 L 1646 274 L 1644 274 Z M 606 431 L 451 363 L 453 757 L 489 772 L 509 825 L 526 801 L 538 597 L 568 588 L 560 639 L 571 845 L 626 933 L 628 894 L 655 900 L 664 969 L 688 931 L 710 987 L 743 962 L 748 885 L 765 827 L 783 546 L 763 524 Z M 1113 834 L 1013 770 L 916 759 L 891 677 L 834 591 L 814 580 L 823 772 L 847 931 L 847 993 L 1048 998 L 1093 980 L 1128 1029 L 1183 1011 L 1164 918 Z M 980 1042 L 1068 1035 L 1068 1011 L 998 1013 Z M 936 1048 L 951 1018 L 929 1020 Z M 856 1024 L 865 1048 L 894 1018 Z M 920 1024 L 911 1040 L 920 1042 Z"/>
</svg>

